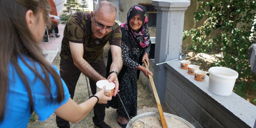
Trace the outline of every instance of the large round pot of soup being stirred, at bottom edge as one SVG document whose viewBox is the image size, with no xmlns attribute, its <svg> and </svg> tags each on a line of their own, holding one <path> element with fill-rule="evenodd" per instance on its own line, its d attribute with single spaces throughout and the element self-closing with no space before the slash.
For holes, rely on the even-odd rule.
<svg viewBox="0 0 256 128">
<path fill-rule="evenodd" d="M 166 120 L 166 123 L 168 125 L 168 119 L 167 118 L 172 118 L 172 120 L 177 120 L 176 122 L 182 122 L 182 124 L 185 125 L 186 128 L 195 128 L 193 125 L 191 125 L 188 121 L 184 120 L 183 118 L 180 118 L 176 115 L 173 115 L 173 114 L 170 114 L 170 113 L 163 113 L 164 117 L 165 117 L 165 120 Z M 140 115 L 136 115 L 134 118 L 131 119 L 132 122 L 135 122 L 135 121 L 141 121 L 143 118 L 146 118 L 146 117 L 154 117 L 154 116 L 157 116 L 159 119 L 158 121 L 160 120 L 160 116 L 159 116 L 159 113 L 158 112 L 148 112 L 148 113 L 143 113 L 143 114 L 140 114 Z M 127 126 L 126 128 L 132 128 L 132 124 L 131 124 L 131 121 L 129 121 L 127 123 Z M 152 121 L 151 121 L 152 122 Z M 174 121 L 175 122 L 175 121 Z M 145 122 L 144 122 L 145 123 Z M 160 122 L 161 123 L 161 122 Z M 149 124 L 145 124 L 145 127 L 149 127 L 147 126 Z M 172 126 L 175 125 L 175 124 L 171 124 Z M 170 127 L 169 127 L 170 128 Z"/>
</svg>

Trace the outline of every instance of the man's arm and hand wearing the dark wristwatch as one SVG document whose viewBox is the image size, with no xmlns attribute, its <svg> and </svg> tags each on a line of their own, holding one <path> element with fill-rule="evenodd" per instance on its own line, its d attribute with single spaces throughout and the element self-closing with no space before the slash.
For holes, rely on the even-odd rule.
<svg viewBox="0 0 256 128">
<path fill-rule="evenodd" d="M 110 72 L 117 71 L 119 73 L 122 68 L 122 65 L 123 65 L 122 50 L 120 47 L 115 46 L 115 45 L 110 45 L 110 50 L 111 50 L 111 54 L 112 54 L 112 64 L 110 66 Z M 117 94 L 118 88 L 119 88 L 117 74 L 111 73 L 108 77 L 108 80 L 109 80 L 109 82 L 115 83 L 115 89 L 114 89 L 114 96 L 115 96 Z"/>
</svg>

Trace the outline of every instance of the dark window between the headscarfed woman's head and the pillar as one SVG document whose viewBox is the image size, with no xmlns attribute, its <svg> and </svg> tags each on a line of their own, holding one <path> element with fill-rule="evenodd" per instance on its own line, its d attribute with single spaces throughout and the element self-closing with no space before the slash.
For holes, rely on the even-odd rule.
<svg viewBox="0 0 256 128">
<path fill-rule="evenodd" d="M 155 9 L 155 6 L 152 6 L 151 3 L 139 3 L 139 5 L 146 8 L 148 26 L 156 27 L 157 26 L 157 10 Z"/>
</svg>

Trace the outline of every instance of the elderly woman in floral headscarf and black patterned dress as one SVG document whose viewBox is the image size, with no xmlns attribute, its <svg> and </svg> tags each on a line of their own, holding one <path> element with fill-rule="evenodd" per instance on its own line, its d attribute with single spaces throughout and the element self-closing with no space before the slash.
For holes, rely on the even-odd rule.
<svg viewBox="0 0 256 128">
<path fill-rule="evenodd" d="M 152 72 L 141 66 L 143 61 L 149 65 L 148 53 L 150 51 L 150 36 L 147 29 L 147 12 L 143 6 L 132 6 L 127 14 L 127 22 L 120 25 L 122 31 L 122 58 L 123 67 L 118 75 L 119 95 L 124 103 L 129 116 L 137 114 L 137 78 L 138 70 L 145 76 L 153 75 Z M 110 52 L 109 52 L 110 53 Z M 111 64 L 111 54 L 109 54 L 107 67 Z M 109 69 L 109 68 L 108 68 Z M 118 124 L 126 127 L 128 115 L 118 97 L 113 97 L 107 104 L 117 109 Z"/>
</svg>

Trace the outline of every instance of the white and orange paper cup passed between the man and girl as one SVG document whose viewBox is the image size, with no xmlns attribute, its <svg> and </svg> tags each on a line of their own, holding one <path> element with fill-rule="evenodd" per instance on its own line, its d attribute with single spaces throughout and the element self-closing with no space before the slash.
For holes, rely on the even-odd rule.
<svg viewBox="0 0 256 128">
<path fill-rule="evenodd" d="M 96 92 L 102 90 L 104 85 L 106 85 L 104 95 L 107 96 L 107 97 L 110 97 L 111 95 L 113 96 L 113 91 L 114 91 L 114 88 L 115 88 L 115 84 L 113 82 L 110 83 L 108 80 L 97 81 L 97 83 L 96 83 L 96 86 L 97 86 Z"/>
</svg>

